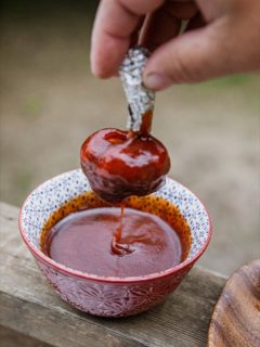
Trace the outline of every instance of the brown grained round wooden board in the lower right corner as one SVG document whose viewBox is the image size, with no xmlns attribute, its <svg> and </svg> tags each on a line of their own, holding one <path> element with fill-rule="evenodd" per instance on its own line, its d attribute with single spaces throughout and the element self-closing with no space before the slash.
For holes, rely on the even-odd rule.
<svg viewBox="0 0 260 347">
<path fill-rule="evenodd" d="M 208 347 L 260 346 L 260 260 L 238 269 L 216 305 Z"/>
</svg>

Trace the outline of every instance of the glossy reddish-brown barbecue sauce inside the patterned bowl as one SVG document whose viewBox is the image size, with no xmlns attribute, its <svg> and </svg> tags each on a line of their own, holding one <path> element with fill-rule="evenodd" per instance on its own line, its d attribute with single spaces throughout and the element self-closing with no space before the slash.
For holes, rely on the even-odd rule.
<svg viewBox="0 0 260 347">
<path fill-rule="evenodd" d="M 51 216 L 40 245 L 44 254 L 72 269 L 121 278 L 180 264 L 188 254 L 191 233 L 179 209 L 161 197 L 131 196 L 122 211 L 88 192 Z"/>
</svg>

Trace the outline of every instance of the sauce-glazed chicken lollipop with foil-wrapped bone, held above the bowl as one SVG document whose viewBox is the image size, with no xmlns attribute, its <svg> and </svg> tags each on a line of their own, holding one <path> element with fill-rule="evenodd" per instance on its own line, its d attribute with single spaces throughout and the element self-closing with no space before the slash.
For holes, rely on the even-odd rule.
<svg viewBox="0 0 260 347">
<path fill-rule="evenodd" d="M 130 49 L 119 70 L 129 105 L 129 131 L 102 129 L 81 146 L 82 170 L 93 191 L 109 203 L 153 193 L 170 169 L 166 147 L 150 134 L 154 92 L 142 85 L 147 56 L 144 48 Z"/>
</svg>

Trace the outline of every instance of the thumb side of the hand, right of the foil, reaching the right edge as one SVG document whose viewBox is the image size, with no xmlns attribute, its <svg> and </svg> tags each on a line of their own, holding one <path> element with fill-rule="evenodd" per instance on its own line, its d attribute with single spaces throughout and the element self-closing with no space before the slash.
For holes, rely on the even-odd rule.
<svg viewBox="0 0 260 347">
<path fill-rule="evenodd" d="M 260 5 L 253 1 L 253 10 L 243 7 L 245 1 L 238 2 L 235 10 L 219 16 L 208 7 L 204 17 L 211 17 L 212 22 L 159 47 L 147 62 L 144 83 L 151 89 L 161 90 L 172 83 L 199 82 L 259 69 L 260 24 L 257 10 L 260 11 Z M 197 27 L 203 22 L 194 24 Z"/>
</svg>

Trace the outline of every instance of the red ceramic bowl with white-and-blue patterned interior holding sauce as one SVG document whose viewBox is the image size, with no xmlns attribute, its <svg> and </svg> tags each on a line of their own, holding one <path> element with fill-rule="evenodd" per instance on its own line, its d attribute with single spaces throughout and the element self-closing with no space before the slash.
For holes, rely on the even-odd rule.
<svg viewBox="0 0 260 347">
<path fill-rule="evenodd" d="M 211 223 L 202 202 L 185 187 L 167 178 L 156 195 L 174 204 L 186 219 L 192 234 L 191 249 L 180 265 L 143 277 L 106 278 L 77 271 L 46 256 L 40 233 L 61 205 L 90 191 L 80 169 L 62 174 L 39 185 L 26 198 L 20 213 L 22 237 L 60 296 L 72 306 L 95 316 L 125 317 L 150 309 L 166 299 L 206 250 Z"/>
</svg>

